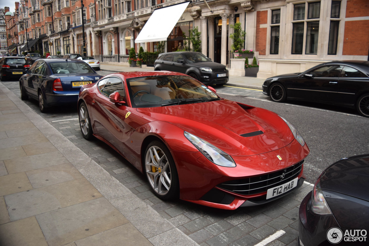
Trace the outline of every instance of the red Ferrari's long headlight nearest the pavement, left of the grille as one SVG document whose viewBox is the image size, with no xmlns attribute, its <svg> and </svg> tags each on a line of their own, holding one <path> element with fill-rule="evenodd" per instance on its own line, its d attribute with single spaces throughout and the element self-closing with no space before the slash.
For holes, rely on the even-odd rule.
<svg viewBox="0 0 369 246">
<path fill-rule="evenodd" d="M 232 159 L 230 155 L 225 153 L 223 150 L 218 149 L 211 143 L 206 142 L 205 140 L 190 134 L 188 132 L 184 132 L 184 136 L 197 148 L 200 150 L 203 155 L 209 159 L 214 164 L 223 167 L 235 167 L 236 163 Z"/>
</svg>

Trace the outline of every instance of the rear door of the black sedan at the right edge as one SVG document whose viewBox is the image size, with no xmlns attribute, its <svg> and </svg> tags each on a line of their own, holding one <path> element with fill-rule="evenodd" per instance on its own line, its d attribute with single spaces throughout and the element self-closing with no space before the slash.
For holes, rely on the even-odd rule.
<svg viewBox="0 0 369 246">
<path fill-rule="evenodd" d="M 352 66 L 342 66 L 339 75 L 338 93 L 335 98 L 337 104 L 353 106 L 359 93 L 369 89 L 369 77 Z"/>
</svg>

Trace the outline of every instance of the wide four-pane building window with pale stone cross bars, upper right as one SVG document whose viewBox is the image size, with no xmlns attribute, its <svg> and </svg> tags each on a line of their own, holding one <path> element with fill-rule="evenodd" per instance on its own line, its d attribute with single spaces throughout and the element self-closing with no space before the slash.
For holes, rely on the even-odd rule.
<svg viewBox="0 0 369 246">
<path fill-rule="evenodd" d="M 305 9 L 307 7 L 307 16 Z M 294 5 L 293 30 L 292 30 L 292 54 L 317 54 L 319 38 L 320 2 L 310 2 Z M 308 20 L 308 21 L 307 21 Z M 304 28 L 306 27 L 306 33 Z M 304 37 L 306 43 L 304 44 Z"/>
</svg>

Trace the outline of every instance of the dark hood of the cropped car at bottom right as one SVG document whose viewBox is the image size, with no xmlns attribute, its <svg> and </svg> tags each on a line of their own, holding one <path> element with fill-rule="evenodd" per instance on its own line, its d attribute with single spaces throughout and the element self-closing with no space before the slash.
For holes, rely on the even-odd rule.
<svg viewBox="0 0 369 246">
<path fill-rule="evenodd" d="M 341 159 L 320 176 L 322 189 L 369 201 L 369 154 Z"/>
</svg>

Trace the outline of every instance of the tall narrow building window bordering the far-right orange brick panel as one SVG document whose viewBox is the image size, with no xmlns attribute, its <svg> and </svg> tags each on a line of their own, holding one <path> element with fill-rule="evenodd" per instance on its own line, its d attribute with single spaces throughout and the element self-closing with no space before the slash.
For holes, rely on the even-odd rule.
<svg viewBox="0 0 369 246">
<path fill-rule="evenodd" d="M 332 1 L 331 18 L 339 18 L 341 1 Z M 337 41 L 339 31 L 339 20 L 331 20 L 329 28 L 328 55 L 337 55 Z"/>
</svg>

